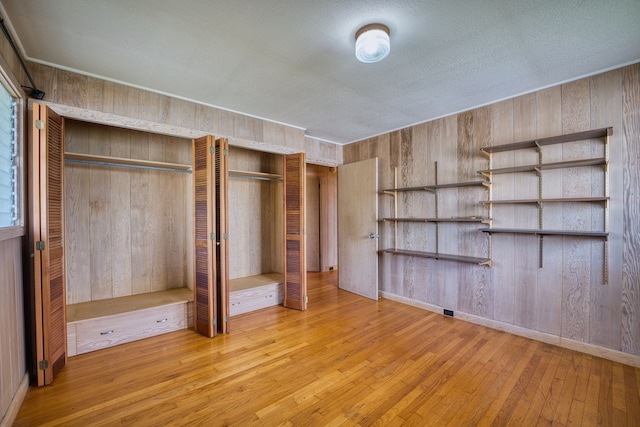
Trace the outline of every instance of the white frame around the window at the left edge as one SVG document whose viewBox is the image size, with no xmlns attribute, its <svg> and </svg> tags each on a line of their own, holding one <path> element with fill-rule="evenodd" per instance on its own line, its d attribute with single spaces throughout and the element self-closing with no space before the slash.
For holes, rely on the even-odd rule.
<svg viewBox="0 0 640 427">
<path fill-rule="evenodd" d="M 26 124 L 24 121 L 24 113 L 25 113 L 25 102 L 26 98 L 24 92 L 21 89 L 20 83 L 13 77 L 11 73 L 8 72 L 10 70 L 8 64 L 4 61 L 2 57 L 0 57 L 0 84 L 2 84 L 7 92 L 11 94 L 16 103 L 15 106 L 15 114 L 16 114 L 16 143 L 17 143 L 17 153 L 15 159 L 15 165 L 17 166 L 17 220 L 14 225 L 0 227 L 0 241 L 13 239 L 16 237 L 24 236 L 25 234 L 25 194 L 26 194 L 26 186 L 25 186 L 25 175 L 26 175 L 26 150 L 25 150 L 25 129 Z"/>
</svg>

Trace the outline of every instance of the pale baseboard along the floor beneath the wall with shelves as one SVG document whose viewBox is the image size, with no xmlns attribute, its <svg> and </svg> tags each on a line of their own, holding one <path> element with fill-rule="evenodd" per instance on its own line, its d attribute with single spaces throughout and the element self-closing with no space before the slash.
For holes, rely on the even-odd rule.
<svg viewBox="0 0 640 427">
<path fill-rule="evenodd" d="M 380 296 L 391 301 L 396 301 L 402 304 L 410 305 L 412 307 L 421 308 L 428 311 L 433 311 L 438 314 L 442 314 L 445 307 L 440 307 L 435 304 L 429 304 L 422 301 L 412 300 L 400 295 L 391 294 L 388 292 L 380 291 Z M 622 363 L 625 365 L 640 368 L 640 356 L 635 356 L 622 351 L 613 350 L 609 348 L 600 347 L 597 345 L 584 343 L 568 338 L 562 338 L 556 335 L 547 334 L 544 332 L 533 331 L 531 329 L 522 328 L 520 326 L 510 325 L 508 323 L 498 322 L 497 320 L 486 319 L 484 317 L 476 316 L 473 314 L 467 314 L 460 311 L 455 312 L 455 318 L 464 320 L 477 325 L 486 326 L 488 328 L 497 329 L 499 331 L 508 332 L 510 334 L 518 335 L 525 338 L 531 338 L 536 341 L 542 341 L 547 344 L 557 345 L 559 347 L 567 348 L 569 350 L 579 351 L 581 353 L 590 354 L 592 356 L 602 357 L 614 362 Z"/>
</svg>

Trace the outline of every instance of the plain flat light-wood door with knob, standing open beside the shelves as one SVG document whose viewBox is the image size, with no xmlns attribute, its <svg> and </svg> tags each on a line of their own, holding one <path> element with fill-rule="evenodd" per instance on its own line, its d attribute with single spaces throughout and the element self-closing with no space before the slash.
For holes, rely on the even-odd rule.
<svg viewBox="0 0 640 427">
<path fill-rule="evenodd" d="M 338 287 L 378 299 L 378 159 L 338 168 Z"/>
</svg>

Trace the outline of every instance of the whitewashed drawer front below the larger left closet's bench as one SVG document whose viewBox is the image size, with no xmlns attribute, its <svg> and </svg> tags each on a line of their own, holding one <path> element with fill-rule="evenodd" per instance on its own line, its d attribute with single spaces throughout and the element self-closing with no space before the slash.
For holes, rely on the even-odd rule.
<svg viewBox="0 0 640 427">
<path fill-rule="evenodd" d="M 78 321 L 75 324 L 76 353 L 82 354 L 185 329 L 188 321 L 186 305 L 173 304 Z"/>
</svg>

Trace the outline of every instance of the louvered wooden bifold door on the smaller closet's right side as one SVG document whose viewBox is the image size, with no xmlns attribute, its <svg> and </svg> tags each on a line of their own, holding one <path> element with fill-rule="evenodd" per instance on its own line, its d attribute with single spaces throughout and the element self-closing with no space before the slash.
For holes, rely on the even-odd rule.
<svg viewBox="0 0 640 427">
<path fill-rule="evenodd" d="M 307 309 L 305 155 L 284 156 L 284 306 Z"/>
</svg>

